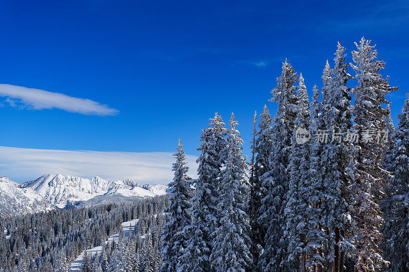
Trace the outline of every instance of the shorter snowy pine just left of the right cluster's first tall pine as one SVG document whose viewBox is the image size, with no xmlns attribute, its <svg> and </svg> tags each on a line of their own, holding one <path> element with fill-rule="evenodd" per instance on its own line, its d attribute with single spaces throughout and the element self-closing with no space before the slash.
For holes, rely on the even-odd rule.
<svg viewBox="0 0 409 272">
<path fill-rule="evenodd" d="M 271 122 L 271 115 L 268 112 L 267 106 L 264 105 L 263 112 L 260 114 L 259 131 L 257 132 L 257 138 L 254 144 L 256 158 L 254 161 L 252 201 L 249 203 L 249 208 L 251 209 L 250 225 L 253 234 L 252 255 L 255 265 L 258 264 L 258 259 L 263 251 L 264 236 L 267 233 L 267 224 L 263 224 L 260 216 L 263 215 L 261 200 L 267 194 L 267 191 L 262 186 L 262 177 L 270 170 L 270 156 L 273 150 Z"/>
</svg>

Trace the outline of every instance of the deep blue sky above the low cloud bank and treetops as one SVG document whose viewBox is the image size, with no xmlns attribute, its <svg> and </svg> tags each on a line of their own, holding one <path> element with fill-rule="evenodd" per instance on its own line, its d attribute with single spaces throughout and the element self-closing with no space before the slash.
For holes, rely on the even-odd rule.
<svg viewBox="0 0 409 272">
<path fill-rule="evenodd" d="M 311 90 L 336 42 L 352 61 L 362 36 L 400 87 L 394 121 L 409 91 L 409 1 L 0 3 L 0 83 L 65 95 L 43 105 L 50 93 L 22 102 L 6 88 L 1 146 L 172 152 L 180 137 L 198 155 L 208 119 L 233 111 L 248 153 L 254 111 L 275 113 L 267 100 L 285 58 Z"/>
</svg>

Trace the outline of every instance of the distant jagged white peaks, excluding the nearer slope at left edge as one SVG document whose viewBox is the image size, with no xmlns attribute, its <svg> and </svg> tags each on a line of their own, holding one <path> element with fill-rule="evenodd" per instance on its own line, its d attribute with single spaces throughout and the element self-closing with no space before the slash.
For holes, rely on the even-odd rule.
<svg viewBox="0 0 409 272">
<path fill-rule="evenodd" d="M 21 184 L 20 187 L 34 190 L 46 201 L 59 208 L 81 201 L 88 201 L 100 195 L 146 197 L 165 194 L 168 189 L 165 185 L 140 185 L 131 179 L 107 181 L 95 177 L 89 180 L 51 174 Z"/>
</svg>

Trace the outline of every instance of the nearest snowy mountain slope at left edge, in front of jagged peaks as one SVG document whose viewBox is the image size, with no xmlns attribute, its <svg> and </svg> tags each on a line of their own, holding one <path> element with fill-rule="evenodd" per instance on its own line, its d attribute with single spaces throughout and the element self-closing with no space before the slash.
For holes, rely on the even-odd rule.
<svg viewBox="0 0 409 272">
<path fill-rule="evenodd" d="M 55 208 L 50 202 L 31 188 L 20 188 L 20 184 L 7 177 L 0 177 L 0 216 L 47 211 Z"/>
</svg>

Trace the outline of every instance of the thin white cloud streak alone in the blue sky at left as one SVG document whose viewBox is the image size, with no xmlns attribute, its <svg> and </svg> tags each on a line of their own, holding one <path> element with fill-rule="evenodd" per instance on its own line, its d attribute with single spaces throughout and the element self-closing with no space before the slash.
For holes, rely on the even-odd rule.
<svg viewBox="0 0 409 272">
<path fill-rule="evenodd" d="M 12 107 L 26 107 L 34 110 L 60 109 L 86 115 L 116 115 L 118 110 L 96 101 L 72 97 L 58 92 L 49 92 L 9 84 L 0 84 L 0 96 L 7 97 Z"/>
</svg>

